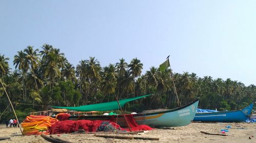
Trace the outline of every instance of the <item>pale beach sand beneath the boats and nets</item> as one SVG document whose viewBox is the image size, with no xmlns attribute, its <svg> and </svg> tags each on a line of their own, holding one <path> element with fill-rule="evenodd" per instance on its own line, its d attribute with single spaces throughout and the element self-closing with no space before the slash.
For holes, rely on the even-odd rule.
<svg viewBox="0 0 256 143">
<path fill-rule="evenodd" d="M 226 129 L 227 125 L 231 125 L 229 132 L 225 134 L 229 136 L 207 135 L 200 133 L 205 131 L 208 133 L 220 133 L 221 129 Z M 19 128 L 5 128 L 0 126 L 0 137 L 11 137 L 11 140 L 0 140 L 1 143 L 6 142 L 48 142 L 40 136 L 12 136 L 15 133 L 20 134 Z M 221 133 L 220 133 L 221 134 Z M 110 134 L 106 134 L 110 135 Z M 120 134 L 119 134 L 120 135 Z M 249 136 L 254 136 L 249 139 Z M 64 139 L 71 142 L 256 142 L 256 124 L 252 123 L 191 123 L 183 127 L 174 127 L 167 129 L 154 129 L 142 134 L 127 135 L 139 137 L 157 137 L 158 141 L 141 140 L 141 139 L 108 139 L 95 137 L 93 134 L 60 134 L 54 137 Z"/>
</svg>

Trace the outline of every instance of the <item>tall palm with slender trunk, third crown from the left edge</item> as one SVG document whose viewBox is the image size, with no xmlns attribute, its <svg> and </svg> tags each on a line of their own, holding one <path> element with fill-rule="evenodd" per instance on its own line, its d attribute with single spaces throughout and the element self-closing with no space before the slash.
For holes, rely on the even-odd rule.
<svg viewBox="0 0 256 143">
<path fill-rule="evenodd" d="M 40 64 L 39 60 L 39 56 L 40 54 L 37 53 L 38 49 L 33 49 L 33 46 L 28 46 L 26 49 L 24 49 L 24 53 L 26 55 L 26 64 L 29 65 L 29 68 L 31 69 L 33 75 L 34 75 L 34 80 L 35 80 L 35 84 L 36 84 L 36 90 L 38 91 L 38 86 L 36 83 L 36 79 L 35 79 L 35 73 L 34 70 L 37 69 L 38 64 Z"/>
</svg>

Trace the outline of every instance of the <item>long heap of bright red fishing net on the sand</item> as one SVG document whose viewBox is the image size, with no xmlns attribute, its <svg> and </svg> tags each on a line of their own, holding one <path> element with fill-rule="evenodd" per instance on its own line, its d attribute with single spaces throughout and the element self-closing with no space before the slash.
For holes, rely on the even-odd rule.
<svg viewBox="0 0 256 143">
<path fill-rule="evenodd" d="M 50 129 L 51 134 L 61 134 L 61 133 L 72 133 L 76 132 L 79 129 L 83 129 L 86 132 L 121 132 L 121 131 L 130 131 L 129 128 L 121 128 L 118 124 L 115 123 L 116 118 L 112 116 L 110 120 L 107 121 L 90 121 L 90 120 L 78 120 L 72 121 L 67 120 L 69 114 L 61 113 L 57 115 L 57 119 L 60 120 L 56 122 Z M 133 115 L 125 115 L 128 120 L 129 126 L 132 131 L 141 131 L 141 130 L 152 130 L 150 126 L 147 125 L 138 125 L 133 118 Z"/>
</svg>

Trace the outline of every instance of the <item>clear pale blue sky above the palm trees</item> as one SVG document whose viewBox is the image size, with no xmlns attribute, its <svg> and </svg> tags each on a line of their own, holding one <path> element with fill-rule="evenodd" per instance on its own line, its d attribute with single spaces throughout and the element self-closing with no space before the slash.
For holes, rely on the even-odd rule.
<svg viewBox="0 0 256 143">
<path fill-rule="evenodd" d="M 138 58 L 143 73 L 170 54 L 174 72 L 256 84 L 256 1 L 1 1 L 0 53 L 59 48 L 71 64 Z"/>
</svg>

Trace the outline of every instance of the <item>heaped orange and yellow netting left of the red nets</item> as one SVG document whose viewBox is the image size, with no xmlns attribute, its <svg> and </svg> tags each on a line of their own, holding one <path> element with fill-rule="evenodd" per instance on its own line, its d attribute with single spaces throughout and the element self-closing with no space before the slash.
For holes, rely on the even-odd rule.
<svg viewBox="0 0 256 143">
<path fill-rule="evenodd" d="M 58 120 L 49 116 L 27 116 L 21 123 L 24 135 L 34 134 L 50 134 L 49 128 L 52 127 Z"/>
</svg>

